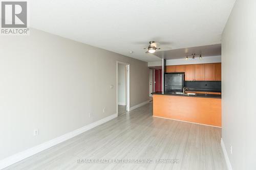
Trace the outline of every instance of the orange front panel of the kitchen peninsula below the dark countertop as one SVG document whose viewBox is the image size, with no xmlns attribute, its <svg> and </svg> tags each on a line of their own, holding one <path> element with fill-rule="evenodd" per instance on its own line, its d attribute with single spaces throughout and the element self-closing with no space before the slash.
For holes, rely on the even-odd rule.
<svg viewBox="0 0 256 170">
<path fill-rule="evenodd" d="M 153 116 L 221 127 L 221 99 L 154 94 Z"/>
</svg>

